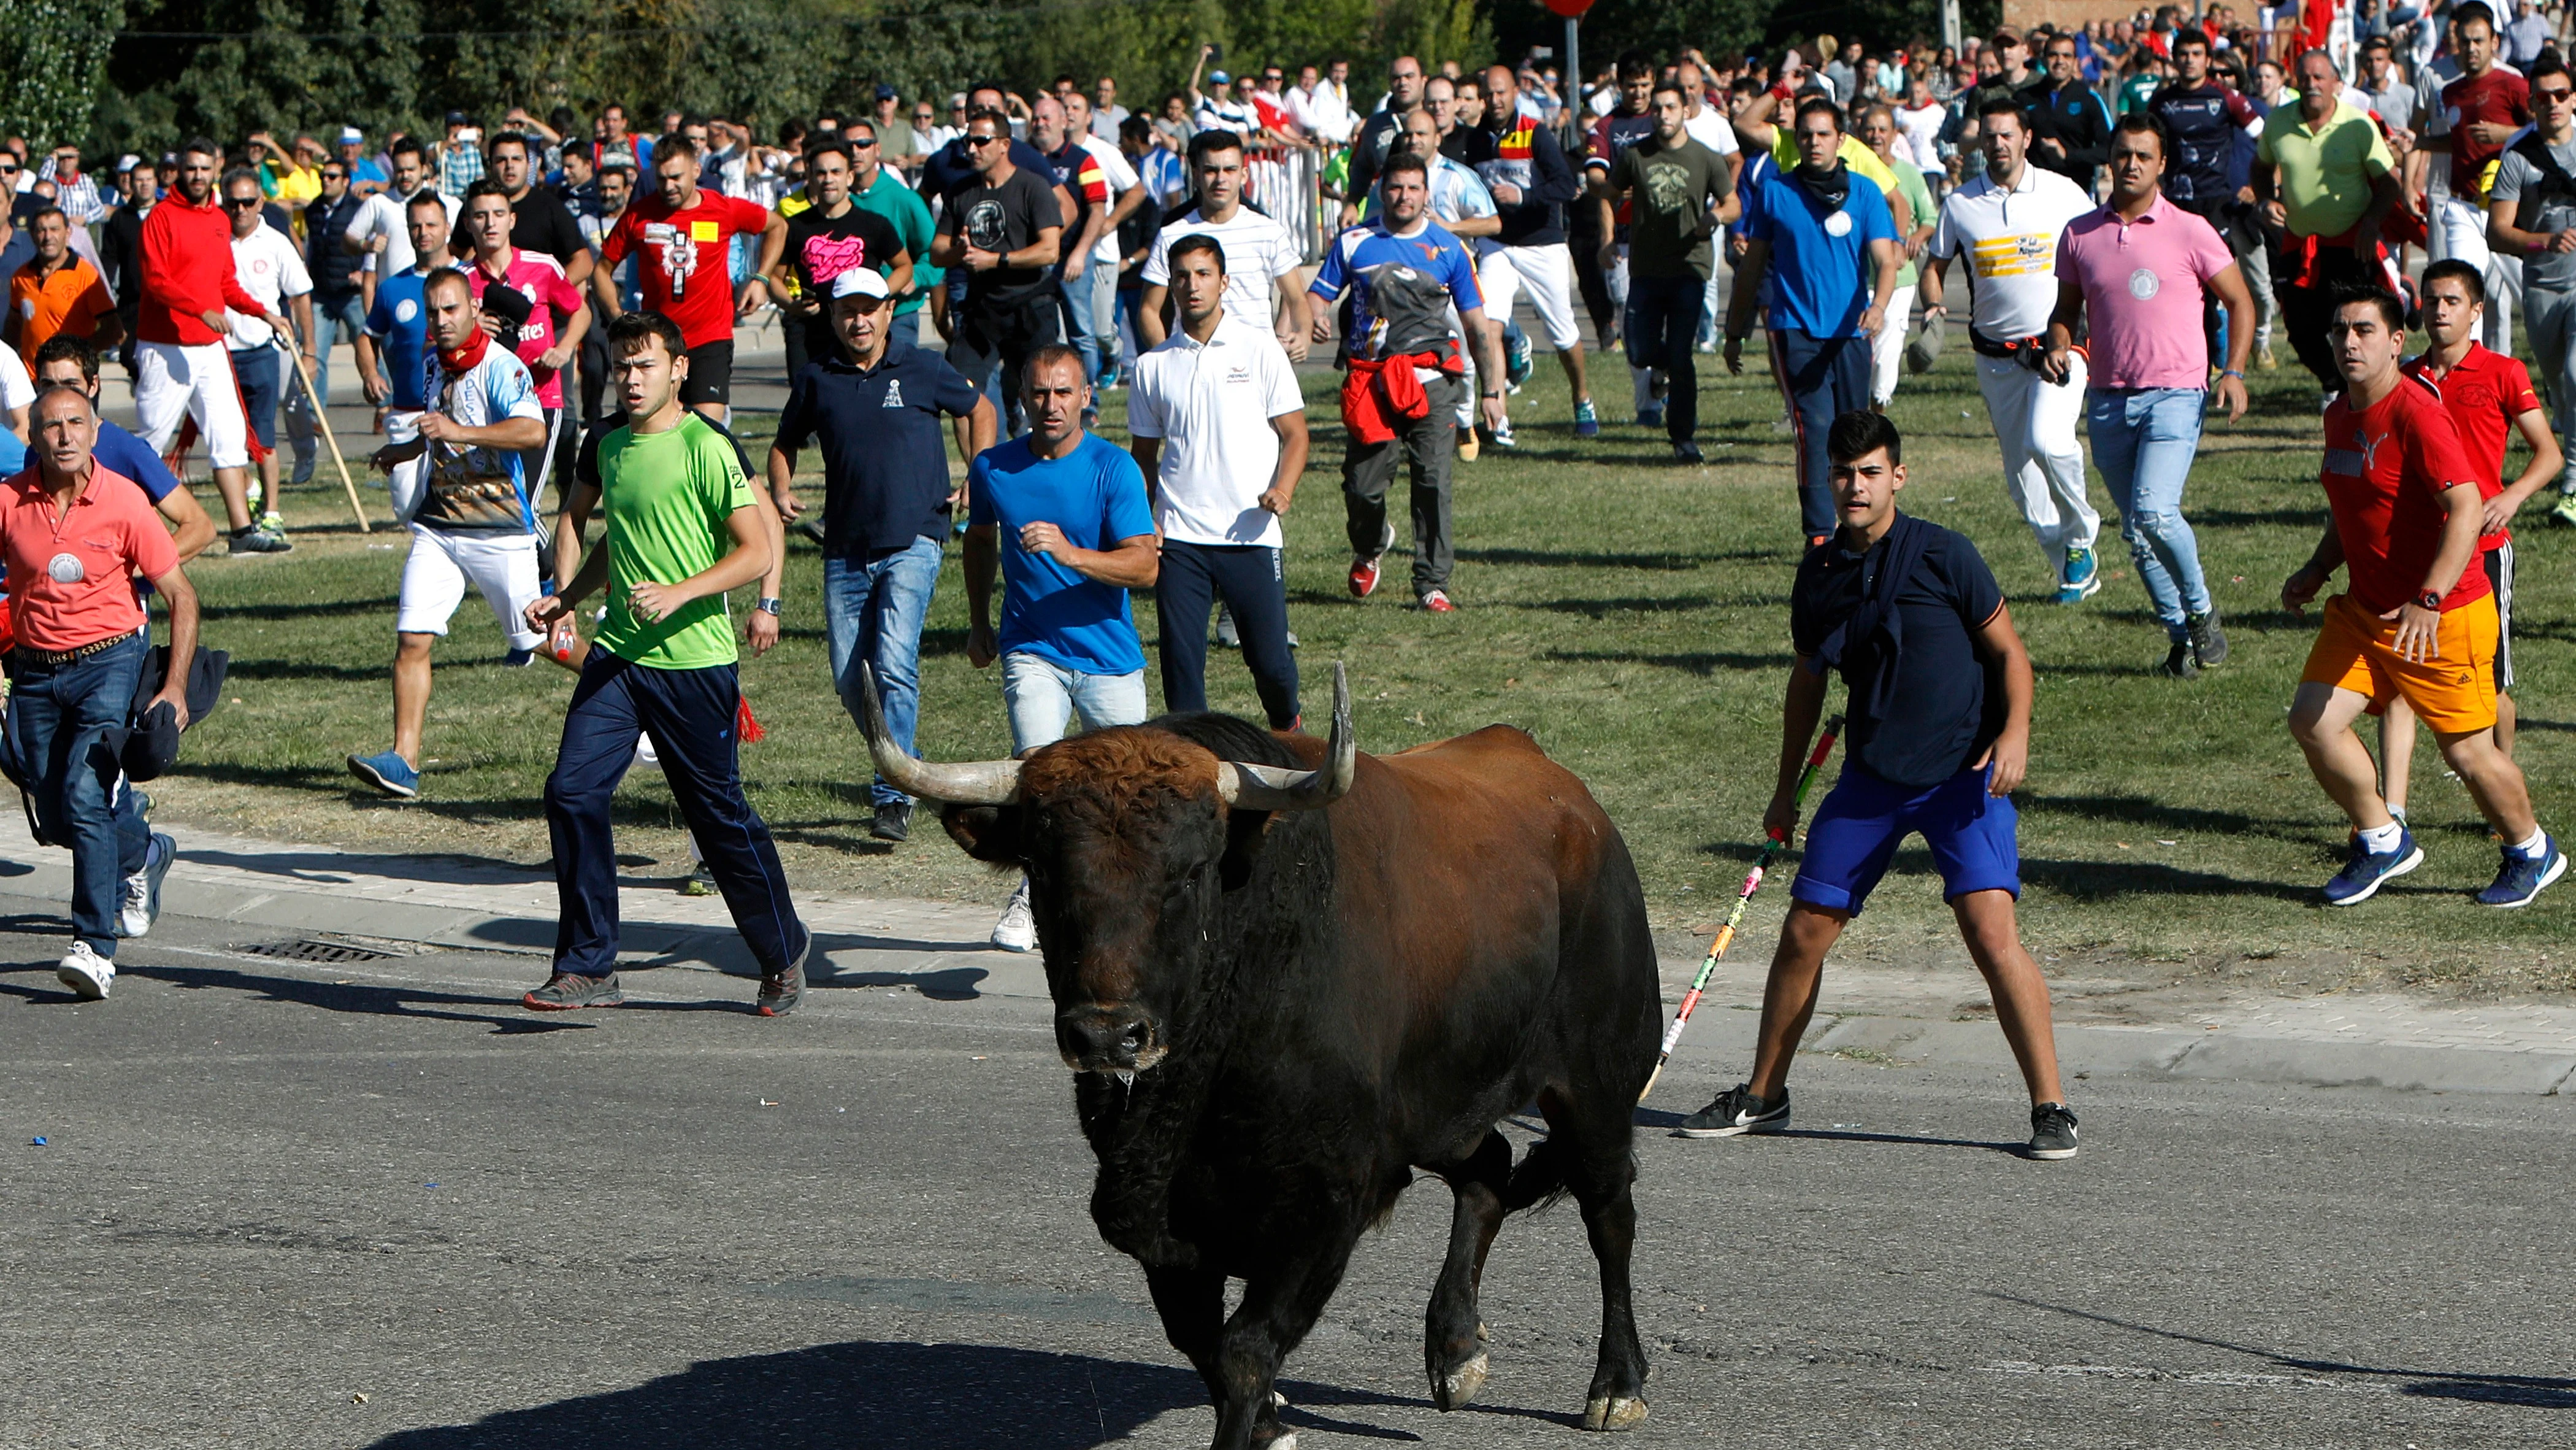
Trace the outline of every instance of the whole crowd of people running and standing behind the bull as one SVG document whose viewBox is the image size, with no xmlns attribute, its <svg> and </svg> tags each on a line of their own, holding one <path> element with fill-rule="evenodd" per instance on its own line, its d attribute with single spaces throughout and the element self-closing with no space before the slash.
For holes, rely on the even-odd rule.
<svg viewBox="0 0 2576 1450">
<path fill-rule="evenodd" d="M 111 185 L 77 147 L 33 173 L 0 149 L 0 185 L 18 185 L 0 404 L 31 456 L 0 458 L 0 757 L 44 840 L 82 863 L 64 981 L 106 994 L 175 850 L 144 824 L 149 775 L 108 744 L 175 752 L 191 719 L 183 564 L 219 528 L 178 487 L 185 451 L 206 446 L 232 554 L 289 551 L 278 489 L 314 474 L 340 340 L 412 538 L 392 744 L 350 770 L 422 791 L 433 652 L 469 587 L 513 664 L 580 675 L 546 786 L 562 935 L 536 1010 L 618 999 L 605 801 L 634 762 L 672 783 L 693 881 L 762 963 L 760 1010 L 801 997 L 809 935 L 734 760 L 747 713 L 724 603 L 757 585 L 742 641 L 775 644 L 791 528 L 824 554 L 835 693 L 907 752 L 951 536 L 969 659 L 999 664 L 1015 752 L 1146 719 L 1136 590 L 1159 605 L 1164 708 L 1206 706 L 1218 608 L 1267 724 L 1296 731 L 1296 368 L 1342 373 L 1350 595 L 1381 585 L 1401 466 L 1409 595 L 1453 613 L 1453 466 L 1517 446 L 1522 294 L 1566 373 L 1566 433 L 1602 435 L 1579 301 L 1592 345 L 1625 353 L 1631 422 L 1682 464 L 1700 461 L 1695 358 L 1741 371 L 1765 330 L 1806 546 L 1783 801 L 1824 675 L 1852 685 L 1855 765 L 1819 809 L 1775 968 L 1790 989 L 1754 1079 L 1690 1131 L 1785 1120 L 1814 963 L 1919 829 L 2012 1007 L 2050 1113 L 2035 1131 L 2074 1151 L 2045 986 L 2012 925 L 2027 654 L 1976 546 L 1893 505 L 1886 410 L 1937 361 L 1953 304 L 2053 603 L 2102 590 L 2089 443 L 2172 677 L 2228 657 L 2184 492 L 2205 415 L 2241 417 L 2246 371 L 2277 366 L 2277 319 L 2318 384 L 2334 518 L 2282 600 L 2349 577 L 2290 706 L 2354 829 L 2326 901 L 2421 863 L 2403 824 L 2416 719 L 2504 842 L 2478 899 L 2522 907 L 2566 871 L 2512 762 L 2506 693 L 2509 523 L 2543 494 L 2576 523 L 2576 98 L 2530 3 L 2254 23 L 2164 5 L 1958 52 L 1623 54 L 1592 85 L 1535 59 L 1399 57 L 1373 100 L 1347 62 L 1291 80 L 1216 59 L 1206 46 L 1151 113 L 1108 77 L 1033 98 L 971 85 L 945 108 L 876 88 L 868 116 L 788 121 L 775 144 L 685 113 L 644 137 L 603 106 L 587 131 L 518 108 L 489 137 L 459 111 L 435 139 L 381 147 L 355 129 L 332 147 L 191 139 L 124 157 Z M 2517 301 L 2537 368 L 2512 358 Z M 732 391 L 739 327 L 770 309 L 791 381 L 755 464 Z M 2406 358 L 2411 327 L 2429 343 Z M 131 376 L 134 433 L 98 415 L 103 355 Z M 1126 389 L 1123 446 L 1100 433 L 1103 389 Z M 2512 479 L 2509 438 L 2530 451 Z M 806 451 L 819 510 L 796 492 Z M 77 549 L 75 507 L 100 518 Z M 173 621 L 162 654 L 144 649 L 147 592 Z M 2378 760 L 2354 734 L 2365 708 L 2383 713 Z M 167 729 L 144 729 L 149 711 Z M 907 840 L 909 816 L 876 780 L 871 832 Z M 1036 940 L 1023 881 L 994 943 Z"/>
</svg>

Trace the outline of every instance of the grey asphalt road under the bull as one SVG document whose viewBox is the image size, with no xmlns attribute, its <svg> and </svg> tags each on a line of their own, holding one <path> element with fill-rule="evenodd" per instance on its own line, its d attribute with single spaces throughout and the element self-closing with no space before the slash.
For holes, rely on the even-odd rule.
<svg viewBox="0 0 2576 1450">
<path fill-rule="evenodd" d="M 541 958 L 286 963 L 180 919 L 72 1004 L 59 930 L 0 919 L 0 1445 L 1206 1442 L 1084 1216 L 1043 1004 L 822 986 L 762 1022 L 662 968 L 531 1017 Z M 1649 1118 L 1716 1084 L 1685 1056 Z M 1803 1064 L 1790 1138 L 1643 1131 L 1633 1442 L 2576 1442 L 2563 1102 L 2074 1087 L 2069 1164 L 2007 1151 L 2007 1082 L 1901 1064 Z M 1504 1229 L 1453 1417 L 1445 1223 L 1406 1195 L 1291 1360 L 1306 1450 L 1587 1442 L 1577 1213 Z"/>
</svg>

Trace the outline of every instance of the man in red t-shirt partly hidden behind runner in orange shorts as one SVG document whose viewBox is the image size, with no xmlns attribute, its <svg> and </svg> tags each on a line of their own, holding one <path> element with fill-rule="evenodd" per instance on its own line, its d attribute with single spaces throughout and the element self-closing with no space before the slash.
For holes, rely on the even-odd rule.
<svg viewBox="0 0 2576 1450">
<path fill-rule="evenodd" d="M 2447 258 L 2424 268 L 2424 335 L 2432 348 L 2406 361 L 2406 376 L 2424 379 L 2442 394 L 2442 410 L 2460 430 L 2468 461 L 2478 466 L 2478 492 L 2486 497 L 2478 520 L 2478 559 L 2486 585 L 2496 592 L 2496 749 L 2514 752 L 2514 513 L 2558 476 L 2558 435 L 2540 407 L 2532 373 L 2514 358 L 2478 345 L 2486 304 L 2486 278 L 2478 268 Z M 2522 474 L 2504 482 L 2504 443 L 2522 433 L 2532 451 Z M 2380 793 L 2388 811 L 2406 819 L 2406 778 L 2414 762 L 2414 711 L 2391 701 L 2380 716 Z"/>
</svg>

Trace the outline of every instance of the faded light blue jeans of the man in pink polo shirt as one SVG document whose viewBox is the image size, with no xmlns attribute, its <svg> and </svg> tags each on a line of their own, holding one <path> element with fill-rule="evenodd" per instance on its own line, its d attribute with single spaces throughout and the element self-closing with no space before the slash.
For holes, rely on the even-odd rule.
<svg viewBox="0 0 2576 1450">
<path fill-rule="evenodd" d="M 2202 389 L 2092 389 L 2084 399 L 2084 433 L 2120 510 L 2120 538 L 2138 559 L 2138 579 L 2174 644 L 2190 639 L 2187 616 L 2210 610 L 2200 541 L 2182 518 L 2182 484 L 2200 453 L 2205 397 Z"/>
</svg>

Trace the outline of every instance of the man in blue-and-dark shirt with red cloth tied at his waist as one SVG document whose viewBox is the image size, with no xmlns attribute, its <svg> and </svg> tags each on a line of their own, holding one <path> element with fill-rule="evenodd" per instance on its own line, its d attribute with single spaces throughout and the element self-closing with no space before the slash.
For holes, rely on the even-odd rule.
<svg viewBox="0 0 2576 1450">
<path fill-rule="evenodd" d="M 1484 425 L 1502 430 L 1502 348 L 1484 325 L 1476 258 L 1430 216 L 1430 170 L 1414 152 L 1386 157 L 1378 173 L 1386 211 L 1332 240 L 1324 270 L 1306 288 L 1324 301 L 1314 340 L 1332 343 L 1332 304 L 1350 294 L 1350 379 L 1342 384 L 1342 507 L 1350 518 L 1350 592 L 1378 587 L 1378 559 L 1396 543 L 1386 487 L 1396 456 L 1414 484 L 1414 603 L 1432 613 L 1448 598 L 1450 461 L 1458 453 L 1458 404 L 1466 399 L 1466 355 L 1450 309 L 1476 348 L 1484 381 Z"/>
</svg>

